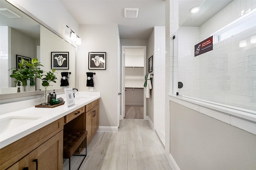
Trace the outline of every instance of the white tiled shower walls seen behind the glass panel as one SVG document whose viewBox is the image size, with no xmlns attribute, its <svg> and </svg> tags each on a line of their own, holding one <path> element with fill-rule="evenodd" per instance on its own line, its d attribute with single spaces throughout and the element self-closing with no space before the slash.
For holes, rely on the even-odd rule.
<svg viewBox="0 0 256 170">
<path fill-rule="evenodd" d="M 255 7 L 255 0 L 234 0 L 201 27 L 180 27 L 178 81 L 184 84 L 178 90 L 180 95 L 256 110 L 256 44 L 250 44 L 256 27 L 216 43 L 213 51 L 194 57 L 194 45 L 240 17 L 241 11 Z M 244 39 L 247 47 L 240 48 L 239 41 Z"/>
</svg>

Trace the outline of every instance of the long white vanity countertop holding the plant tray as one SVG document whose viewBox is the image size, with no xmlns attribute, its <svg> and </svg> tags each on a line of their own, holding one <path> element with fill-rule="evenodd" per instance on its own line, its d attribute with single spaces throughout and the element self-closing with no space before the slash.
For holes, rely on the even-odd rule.
<svg viewBox="0 0 256 170">
<path fill-rule="evenodd" d="M 14 116 L 22 116 L 22 117 L 30 117 L 30 118 L 38 118 L 24 125 L 17 126 L 13 129 L 7 130 L 4 133 L 0 134 L 0 149 L 10 145 L 11 143 L 25 137 L 26 135 L 37 131 L 38 129 L 64 117 L 65 115 L 79 109 L 86 104 L 100 98 L 100 92 L 76 92 L 75 94 L 75 105 L 68 107 L 66 102 L 65 94 L 60 94 L 57 98 L 62 97 L 65 100 L 65 104 L 54 107 L 54 108 L 45 108 L 45 107 L 28 107 L 25 109 L 20 109 L 17 111 L 12 111 L 8 113 L 4 113 L 0 115 L 0 119 L 4 119 L 6 117 Z M 24 101 L 23 101 L 24 102 Z M 6 106 L 10 107 L 18 107 L 19 102 L 15 102 L 12 105 L 6 104 Z M 5 105 L 5 104 L 4 104 Z M 4 106 L 0 106 L 4 108 Z"/>
</svg>

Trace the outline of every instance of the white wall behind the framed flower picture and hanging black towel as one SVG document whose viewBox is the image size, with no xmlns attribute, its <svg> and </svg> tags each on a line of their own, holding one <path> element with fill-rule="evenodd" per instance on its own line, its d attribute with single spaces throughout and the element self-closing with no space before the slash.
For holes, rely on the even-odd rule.
<svg viewBox="0 0 256 170">
<path fill-rule="evenodd" d="M 77 53 L 77 81 L 80 91 L 86 87 L 86 72 L 95 72 L 93 91 L 99 91 L 100 126 L 117 127 L 118 104 L 118 26 L 80 25 L 82 45 Z M 88 52 L 106 52 L 106 70 L 88 70 Z"/>
</svg>

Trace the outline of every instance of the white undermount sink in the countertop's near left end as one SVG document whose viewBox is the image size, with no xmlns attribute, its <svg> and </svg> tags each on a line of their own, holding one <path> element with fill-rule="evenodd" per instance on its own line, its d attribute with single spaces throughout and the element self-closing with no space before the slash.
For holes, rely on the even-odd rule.
<svg viewBox="0 0 256 170">
<path fill-rule="evenodd" d="M 9 116 L 0 119 L 0 134 L 18 128 L 22 125 L 26 125 L 32 121 L 40 119 L 41 117 L 30 117 L 30 116 Z"/>
</svg>

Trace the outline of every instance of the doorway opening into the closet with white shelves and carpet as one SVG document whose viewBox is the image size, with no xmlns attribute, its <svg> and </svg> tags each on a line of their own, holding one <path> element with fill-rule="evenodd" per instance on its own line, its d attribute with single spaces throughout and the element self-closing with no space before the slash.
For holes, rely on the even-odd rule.
<svg viewBox="0 0 256 170">
<path fill-rule="evenodd" d="M 122 102 L 120 120 L 145 119 L 146 46 L 122 46 Z"/>
</svg>

